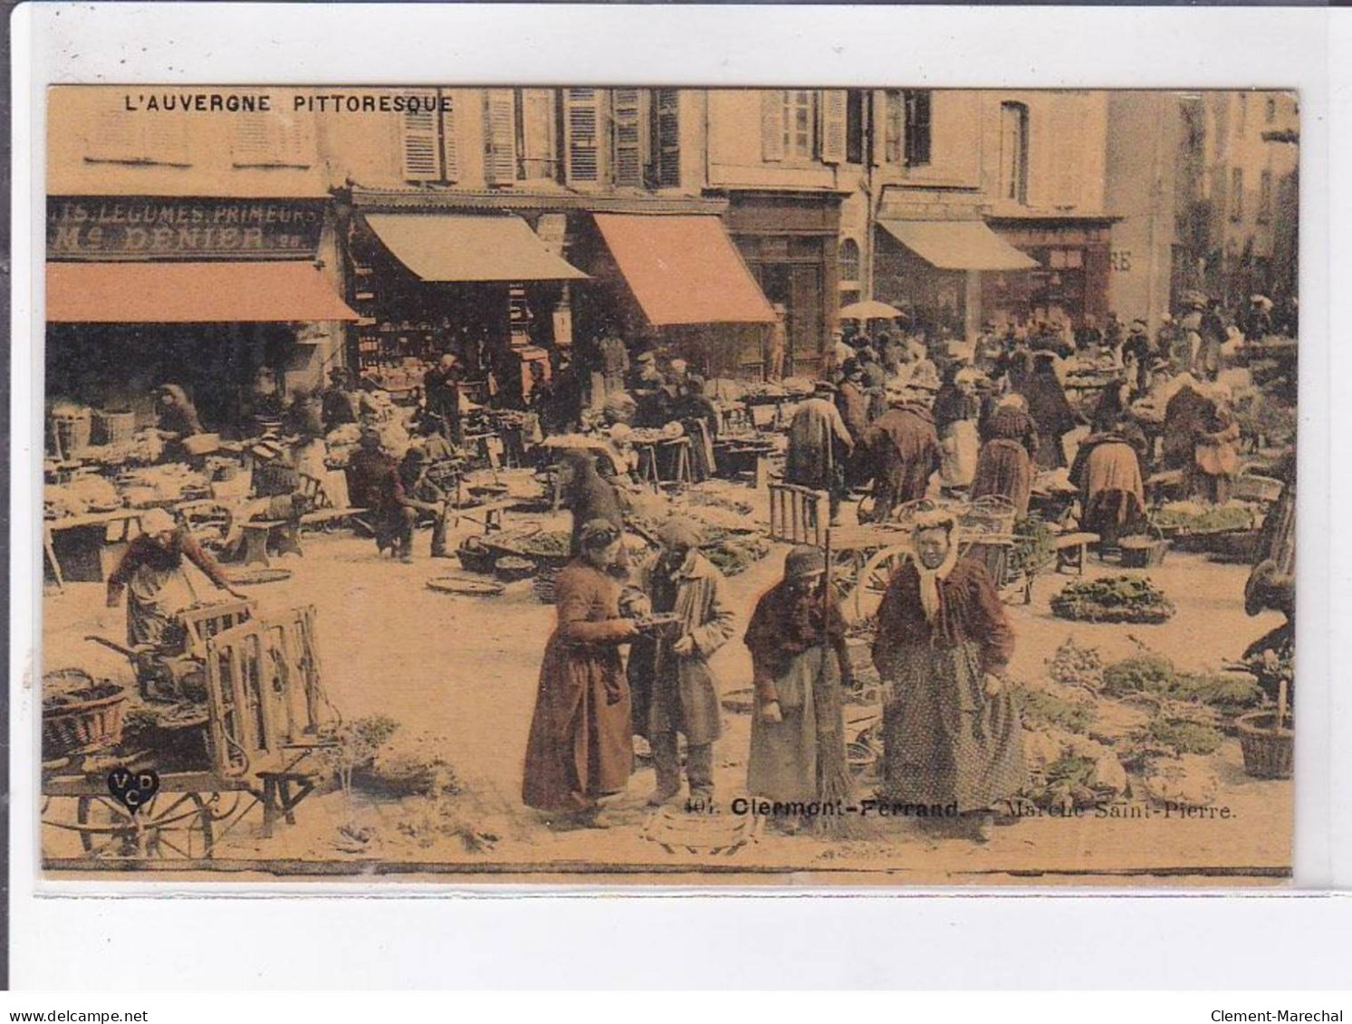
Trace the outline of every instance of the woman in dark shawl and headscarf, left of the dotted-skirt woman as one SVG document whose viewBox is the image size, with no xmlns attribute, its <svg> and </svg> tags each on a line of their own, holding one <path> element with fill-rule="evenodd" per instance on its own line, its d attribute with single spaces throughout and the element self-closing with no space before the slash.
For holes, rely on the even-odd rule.
<svg viewBox="0 0 1352 1024">
<path fill-rule="evenodd" d="M 849 796 L 841 689 L 853 678 L 845 620 L 825 574 L 821 548 L 792 548 L 783 581 L 756 603 L 746 627 L 756 690 L 746 767 L 753 797 L 802 804 Z M 786 811 L 780 824 L 796 821 Z"/>
</svg>

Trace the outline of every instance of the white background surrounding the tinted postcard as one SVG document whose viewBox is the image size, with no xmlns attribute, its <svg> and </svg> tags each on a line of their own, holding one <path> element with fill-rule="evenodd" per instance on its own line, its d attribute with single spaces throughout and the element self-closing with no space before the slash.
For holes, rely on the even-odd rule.
<svg viewBox="0 0 1352 1024">
<path fill-rule="evenodd" d="M 14 16 L 11 567 L 16 988 L 1345 985 L 1352 901 L 1352 22 L 1318 9 L 43 4 Z M 1333 50 L 1341 59 L 1332 59 Z M 1334 69 L 1334 70 L 1330 70 Z M 43 88 L 184 84 L 803 84 L 1297 88 L 1302 112 L 1297 879 L 1283 896 L 791 893 L 448 898 L 178 886 L 38 894 L 28 682 L 41 600 Z M 1332 119 L 1336 119 L 1332 120 Z M 1330 132 L 1330 124 L 1343 127 Z M 1341 135 L 1343 138 L 1337 138 Z M 1333 142 L 1330 153 L 1330 140 Z M 1330 163 L 1332 161 L 1332 163 Z M 1333 168 L 1330 178 L 1329 170 Z M 1345 195 L 1345 189 L 1344 189 Z M 27 243 L 27 245 L 26 245 Z M 1329 282 L 1341 282 L 1332 289 Z M 1332 323 L 1330 323 L 1332 316 Z M 1330 390 L 1333 396 L 1330 400 Z M 1334 455 L 1341 446 L 1334 443 Z M 1338 515 L 1332 516 L 1333 509 Z M 1336 609 L 1336 611 L 1333 611 Z M 1333 743 L 1333 738 L 1341 740 Z M 69 889 L 69 886 L 66 886 Z M 384 893 L 357 898 L 352 893 Z M 50 892 L 50 889 L 49 889 Z M 146 892 L 142 888 L 139 892 Z M 164 890 L 155 890 L 161 896 Z M 223 898 L 228 892 L 234 898 Z M 265 893 L 285 892 L 287 897 Z M 339 898 L 318 893 L 345 892 Z M 295 896 L 308 893 L 308 897 Z M 402 898 L 389 896 L 397 893 Z M 414 893 L 410 898 L 410 893 Z M 439 898 L 429 898 L 437 896 Z M 139 961 L 141 970 L 128 965 Z M 35 1006 L 43 1008 L 43 1006 Z M 1203 1019 L 1197 1015 L 1194 1019 Z"/>
</svg>

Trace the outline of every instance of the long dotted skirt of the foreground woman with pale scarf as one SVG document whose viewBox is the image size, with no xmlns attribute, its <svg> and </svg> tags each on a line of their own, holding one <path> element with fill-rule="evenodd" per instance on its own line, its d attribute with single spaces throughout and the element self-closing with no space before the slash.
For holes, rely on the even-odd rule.
<svg viewBox="0 0 1352 1024">
<path fill-rule="evenodd" d="M 1007 688 L 984 693 L 979 648 L 903 648 L 883 708 L 883 789 L 910 804 L 984 811 L 1026 779 L 1023 736 Z"/>
</svg>

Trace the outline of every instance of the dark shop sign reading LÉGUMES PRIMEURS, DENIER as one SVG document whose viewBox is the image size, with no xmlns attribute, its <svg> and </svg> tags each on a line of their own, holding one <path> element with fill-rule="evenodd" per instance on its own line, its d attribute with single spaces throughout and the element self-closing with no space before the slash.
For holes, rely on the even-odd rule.
<svg viewBox="0 0 1352 1024">
<path fill-rule="evenodd" d="M 47 258 L 296 259 L 315 255 L 322 227 L 322 203 L 53 197 Z"/>
</svg>

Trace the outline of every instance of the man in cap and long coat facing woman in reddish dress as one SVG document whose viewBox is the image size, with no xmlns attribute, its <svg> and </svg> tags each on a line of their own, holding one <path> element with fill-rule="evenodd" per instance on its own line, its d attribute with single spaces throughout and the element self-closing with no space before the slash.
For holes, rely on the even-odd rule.
<svg viewBox="0 0 1352 1024">
<path fill-rule="evenodd" d="M 675 615 L 671 632 L 645 632 L 629 654 L 634 732 L 653 750 L 660 807 L 680 792 L 677 734 L 685 736 L 685 775 L 692 800 L 714 796 L 714 740 L 722 734 L 718 686 L 708 659 L 733 635 L 723 574 L 699 551 L 699 531 L 671 519 L 657 532 L 661 550 L 638 571 L 650 612 Z"/>
</svg>

